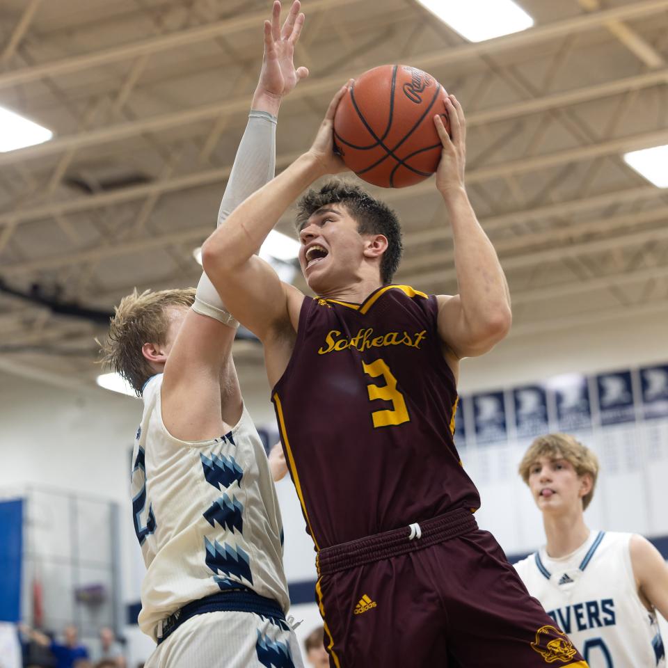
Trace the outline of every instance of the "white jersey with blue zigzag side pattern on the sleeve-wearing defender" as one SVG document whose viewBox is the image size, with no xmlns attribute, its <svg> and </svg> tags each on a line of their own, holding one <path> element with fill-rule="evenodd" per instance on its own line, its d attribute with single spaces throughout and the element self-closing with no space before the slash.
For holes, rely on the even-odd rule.
<svg viewBox="0 0 668 668">
<path fill-rule="evenodd" d="M 132 512 L 147 573 L 139 626 L 228 589 L 250 589 L 287 612 L 283 527 L 267 454 L 244 406 L 220 438 L 188 443 L 162 421 L 162 374 L 143 390 L 132 456 Z"/>
</svg>

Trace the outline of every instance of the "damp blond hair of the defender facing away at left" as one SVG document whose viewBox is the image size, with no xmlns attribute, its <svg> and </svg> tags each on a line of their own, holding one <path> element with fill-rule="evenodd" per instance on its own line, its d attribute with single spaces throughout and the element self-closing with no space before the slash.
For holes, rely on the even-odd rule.
<svg viewBox="0 0 668 668">
<path fill-rule="evenodd" d="M 141 351 L 145 343 L 163 344 L 169 328 L 168 308 L 189 307 L 195 301 L 195 288 L 145 290 L 135 288 L 121 299 L 109 321 L 109 333 L 100 344 L 100 363 L 109 365 L 125 378 L 141 397 L 144 383 L 154 375 Z"/>
</svg>

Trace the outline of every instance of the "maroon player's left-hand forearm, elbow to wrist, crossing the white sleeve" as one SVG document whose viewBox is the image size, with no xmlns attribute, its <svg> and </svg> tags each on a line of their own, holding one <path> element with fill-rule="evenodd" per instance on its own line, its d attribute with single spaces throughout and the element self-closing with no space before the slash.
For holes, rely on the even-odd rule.
<svg viewBox="0 0 668 668">
<path fill-rule="evenodd" d="M 207 264 L 215 265 L 222 276 L 248 262 L 289 205 L 321 175 L 319 161 L 305 153 L 248 197 L 202 246 L 205 269 Z"/>
</svg>

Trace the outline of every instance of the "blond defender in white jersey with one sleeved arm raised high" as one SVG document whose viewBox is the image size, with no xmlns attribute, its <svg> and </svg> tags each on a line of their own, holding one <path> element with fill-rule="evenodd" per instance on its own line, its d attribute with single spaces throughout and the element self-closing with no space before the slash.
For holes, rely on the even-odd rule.
<svg viewBox="0 0 668 668">
<path fill-rule="evenodd" d="M 276 114 L 305 77 L 294 44 L 304 22 L 280 3 L 219 221 L 273 175 Z M 302 666 L 285 620 L 283 529 L 267 456 L 232 362 L 235 321 L 205 275 L 197 290 L 123 299 L 106 360 L 143 397 L 134 443 L 134 524 L 147 573 L 139 625 L 159 645 L 146 666 Z"/>
</svg>

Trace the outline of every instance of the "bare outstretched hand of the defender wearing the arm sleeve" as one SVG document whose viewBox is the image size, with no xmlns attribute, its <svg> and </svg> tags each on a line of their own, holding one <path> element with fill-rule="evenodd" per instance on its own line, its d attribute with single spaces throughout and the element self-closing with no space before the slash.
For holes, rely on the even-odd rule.
<svg viewBox="0 0 668 668">
<path fill-rule="evenodd" d="M 280 103 L 301 79 L 308 77 L 306 67 L 295 69 L 293 63 L 294 45 L 304 25 L 304 15 L 299 12 L 299 0 L 292 3 L 287 19 L 280 27 L 280 2 L 273 3 L 271 21 L 264 22 L 264 56 L 260 81 L 257 82 L 255 100 L 265 97 Z"/>
</svg>

